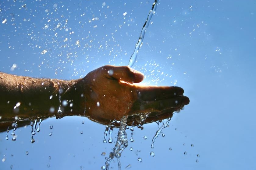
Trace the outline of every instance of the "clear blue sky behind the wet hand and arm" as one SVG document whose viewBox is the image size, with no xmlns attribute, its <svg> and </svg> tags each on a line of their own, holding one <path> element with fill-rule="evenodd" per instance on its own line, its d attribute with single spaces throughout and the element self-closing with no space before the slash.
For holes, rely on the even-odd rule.
<svg viewBox="0 0 256 170">
<path fill-rule="evenodd" d="M 0 71 L 76 79 L 105 64 L 127 65 L 152 3 L 3 0 Z M 146 85 L 182 87 L 190 104 L 173 116 L 154 149 L 157 124 L 135 128 L 122 169 L 256 168 L 255 6 L 253 0 L 159 2 L 133 68 Z M 1 133 L 0 169 L 101 169 L 101 153 L 114 147 L 102 142 L 104 132 L 87 118 L 64 117 L 44 120 L 34 144 L 30 127 L 16 130 L 16 141 Z M 112 167 L 118 169 L 117 160 Z"/>
</svg>

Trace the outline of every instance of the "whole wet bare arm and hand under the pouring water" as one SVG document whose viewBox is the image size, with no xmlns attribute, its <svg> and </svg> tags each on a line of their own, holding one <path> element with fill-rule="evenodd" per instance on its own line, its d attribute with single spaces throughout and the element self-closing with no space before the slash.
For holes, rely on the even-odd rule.
<svg viewBox="0 0 256 170">
<path fill-rule="evenodd" d="M 145 123 L 150 123 L 172 117 L 173 112 L 189 103 L 180 87 L 136 85 L 143 78 L 142 73 L 128 66 L 111 65 L 95 69 L 76 80 L 0 73 L 0 131 L 6 130 L 15 116 L 23 120 L 19 120 L 19 127 L 27 124 L 26 120 L 73 115 L 86 116 L 102 124 L 127 115 L 129 124 L 136 115 L 148 113 Z M 61 104 L 62 114 L 57 113 L 59 95 L 61 101 L 67 102 L 65 106 Z M 54 112 L 50 108 L 54 108 Z"/>
</svg>

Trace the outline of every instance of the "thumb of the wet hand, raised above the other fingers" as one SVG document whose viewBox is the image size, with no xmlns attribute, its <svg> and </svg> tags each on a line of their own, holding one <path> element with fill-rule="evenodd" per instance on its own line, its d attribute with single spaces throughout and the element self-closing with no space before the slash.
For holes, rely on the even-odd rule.
<svg viewBox="0 0 256 170">
<path fill-rule="evenodd" d="M 103 67 L 108 78 L 113 78 L 119 81 L 128 83 L 139 83 L 144 79 L 144 75 L 129 66 L 112 66 L 106 65 Z"/>
</svg>

